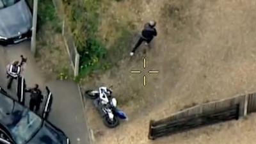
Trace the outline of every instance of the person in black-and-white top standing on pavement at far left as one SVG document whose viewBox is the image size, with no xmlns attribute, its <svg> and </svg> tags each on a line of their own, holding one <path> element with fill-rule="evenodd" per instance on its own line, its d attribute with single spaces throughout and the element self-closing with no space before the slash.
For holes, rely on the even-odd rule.
<svg viewBox="0 0 256 144">
<path fill-rule="evenodd" d="M 7 67 L 6 67 L 6 74 L 7 74 L 7 78 L 9 79 L 8 84 L 7 84 L 8 89 L 10 89 L 12 87 L 13 79 L 17 79 L 20 76 L 20 73 L 22 72 L 22 66 L 27 61 L 27 58 L 24 58 L 22 55 L 20 56 L 20 58 L 21 58 L 21 61 L 18 66 L 20 68 L 20 70 L 17 73 L 14 74 L 14 73 L 10 72 L 11 64 L 7 65 Z"/>
</svg>

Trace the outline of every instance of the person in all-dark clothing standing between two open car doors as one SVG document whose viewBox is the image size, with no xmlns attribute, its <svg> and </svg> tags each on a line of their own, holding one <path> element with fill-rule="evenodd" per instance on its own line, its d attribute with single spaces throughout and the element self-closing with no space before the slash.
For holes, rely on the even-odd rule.
<svg viewBox="0 0 256 144">
<path fill-rule="evenodd" d="M 39 90 L 38 88 L 38 84 L 35 84 L 35 88 L 30 88 L 28 90 L 26 90 L 26 92 L 31 93 L 30 95 L 30 101 L 29 101 L 29 109 L 31 109 L 31 111 L 34 111 L 37 113 L 39 108 L 40 108 L 40 104 L 44 99 L 44 96 L 42 95 L 41 90 Z"/>
</svg>

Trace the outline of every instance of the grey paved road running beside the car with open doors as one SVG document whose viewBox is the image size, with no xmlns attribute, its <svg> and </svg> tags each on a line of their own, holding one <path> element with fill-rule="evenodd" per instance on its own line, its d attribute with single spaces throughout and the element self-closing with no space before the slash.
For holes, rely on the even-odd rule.
<svg viewBox="0 0 256 144">
<path fill-rule="evenodd" d="M 84 122 L 83 106 L 79 96 L 77 85 L 71 81 L 47 82 L 40 73 L 36 63 L 29 51 L 29 42 L 8 47 L 0 46 L 0 85 L 6 89 L 7 80 L 5 78 L 5 67 L 10 61 L 20 60 L 20 54 L 28 58 L 28 63 L 24 71 L 24 77 L 28 87 L 35 83 L 45 92 L 45 84 L 53 95 L 52 111 L 49 115 L 49 122 L 59 127 L 67 134 L 72 144 L 87 144 L 88 131 Z M 12 92 L 15 94 L 15 86 Z M 28 105 L 27 105 L 28 106 Z"/>
</svg>

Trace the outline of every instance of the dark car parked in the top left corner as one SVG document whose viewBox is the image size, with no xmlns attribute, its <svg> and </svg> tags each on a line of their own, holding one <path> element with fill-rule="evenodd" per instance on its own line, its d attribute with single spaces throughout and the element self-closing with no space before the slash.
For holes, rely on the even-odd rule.
<svg viewBox="0 0 256 144">
<path fill-rule="evenodd" d="M 0 0 L 0 44 L 31 38 L 32 13 L 26 0 Z"/>
</svg>

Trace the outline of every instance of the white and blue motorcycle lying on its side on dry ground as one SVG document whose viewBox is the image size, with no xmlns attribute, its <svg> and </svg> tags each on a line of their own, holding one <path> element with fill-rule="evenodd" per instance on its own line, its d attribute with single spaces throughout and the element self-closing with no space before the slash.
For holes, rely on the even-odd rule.
<svg viewBox="0 0 256 144">
<path fill-rule="evenodd" d="M 117 101 L 111 95 L 112 91 L 105 86 L 99 90 L 86 90 L 85 95 L 89 99 L 94 99 L 93 104 L 103 117 L 103 123 L 109 128 L 114 128 L 120 124 L 120 119 L 128 120 L 124 111 L 117 108 Z"/>
</svg>

